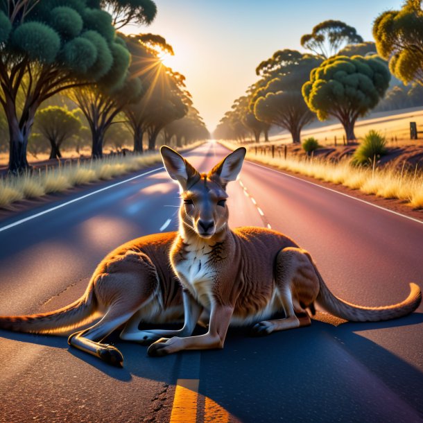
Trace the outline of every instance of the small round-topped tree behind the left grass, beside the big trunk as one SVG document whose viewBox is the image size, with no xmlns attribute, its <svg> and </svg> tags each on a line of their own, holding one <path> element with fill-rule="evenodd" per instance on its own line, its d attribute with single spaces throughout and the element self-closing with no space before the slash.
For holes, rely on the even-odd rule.
<svg viewBox="0 0 423 423">
<path fill-rule="evenodd" d="M 51 145 L 50 158 L 60 159 L 60 147 L 70 137 L 78 133 L 81 123 L 69 110 L 58 106 L 49 106 L 35 114 L 35 128 Z"/>
</svg>

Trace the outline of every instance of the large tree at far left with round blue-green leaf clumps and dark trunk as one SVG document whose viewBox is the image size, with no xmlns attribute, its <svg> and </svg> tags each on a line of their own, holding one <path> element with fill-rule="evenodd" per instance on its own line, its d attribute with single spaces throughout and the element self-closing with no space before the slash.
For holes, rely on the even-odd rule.
<svg viewBox="0 0 423 423">
<path fill-rule="evenodd" d="M 10 136 L 9 169 L 28 166 L 35 112 L 72 87 L 121 78 L 112 18 L 83 0 L 0 2 L 0 103 Z M 18 95 L 23 105 L 17 107 Z"/>
</svg>

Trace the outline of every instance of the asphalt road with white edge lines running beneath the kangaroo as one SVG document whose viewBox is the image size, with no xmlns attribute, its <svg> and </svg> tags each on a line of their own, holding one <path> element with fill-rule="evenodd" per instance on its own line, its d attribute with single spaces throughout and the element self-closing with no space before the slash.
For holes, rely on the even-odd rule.
<svg viewBox="0 0 423 423">
<path fill-rule="evenodd" d="M 207 171 L 227 153 L 207 143 L 187 157 Z M 175 230 L 178 187 L 158 168 L 1 222 L 0 314 L 69 304 L 116 245 Z M 250 162 L 228 193 L 232 227 L 291 236 L 349 302 L 390 304 L 408 295 L 408 282 L 423 286 L 422 223 Z M 112 336 L 123 369 L 63 337 L 0 331 L 0 422 L 422 422 L 422 311 L 338 326 L 322 318 L 264 338 L 230 329 L 223 350 L 162 359 Z"/>
</svg>

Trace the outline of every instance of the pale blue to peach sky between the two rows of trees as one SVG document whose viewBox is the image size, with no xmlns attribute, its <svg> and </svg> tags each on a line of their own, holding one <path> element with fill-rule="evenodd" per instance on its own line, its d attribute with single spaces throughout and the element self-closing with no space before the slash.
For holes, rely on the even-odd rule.
<svg viewBox="0 0 423 423">
<path fill-rule="evenodd" d="M 258 78 L 255 68 L 277 50 L 304 51 L 300 38 L 327 19 L 354 26 L 373 40 L 372 22 L 402 0 L 155 0 L 157 17 L 150 26 L 127 33 L 155 33 L 173 46 L 164 64 L 184 74 L 207 128 Z"/>
</svg>

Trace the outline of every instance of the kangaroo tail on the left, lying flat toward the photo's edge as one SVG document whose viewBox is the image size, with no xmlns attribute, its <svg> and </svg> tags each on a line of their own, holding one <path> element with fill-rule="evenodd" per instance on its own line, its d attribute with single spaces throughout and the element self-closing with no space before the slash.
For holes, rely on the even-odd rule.
<svg viewBox="0 0 423 423">
<path fill-rule="evenodd" d="M 35 334 L 59 334 L 93 320 L 96 299 L 92 286 L 72 304 L 62 309 L 30 316 L 0 316 L 0 329 Z"/>
</svg>

